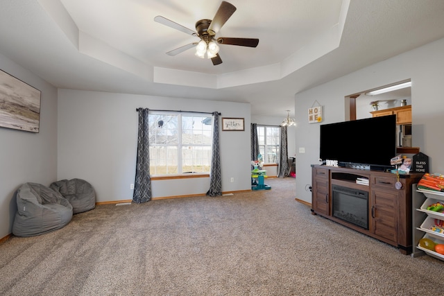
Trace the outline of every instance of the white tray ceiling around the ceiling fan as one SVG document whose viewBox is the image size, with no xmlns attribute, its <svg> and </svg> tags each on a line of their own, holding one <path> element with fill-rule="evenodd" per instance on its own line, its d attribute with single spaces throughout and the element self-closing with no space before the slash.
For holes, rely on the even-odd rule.
<svg viewBox="0 0 444 296">
<path fill-rule="evenodd" d="M 247 102 L 253 115 L 286 116 L 294 94 L 444 37 L 442 0 L 230 0 L 216 37 L 223 64 L 189 49 L 221 1 L 0 0 L 0 53 L 60 88 Z M 364 91 L 364 89 L 363 89 Z"/>
</svg>

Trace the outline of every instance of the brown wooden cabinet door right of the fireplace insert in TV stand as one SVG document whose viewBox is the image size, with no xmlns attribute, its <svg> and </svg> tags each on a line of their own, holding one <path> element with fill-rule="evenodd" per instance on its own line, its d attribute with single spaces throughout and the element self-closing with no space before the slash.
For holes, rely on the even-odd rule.
<svg viewBox="0 0 444 296">
<path fill-rule="evenodd" d="M 370 232 L 398 243 L 398 192 L 372 189 Z"/>
</svg>

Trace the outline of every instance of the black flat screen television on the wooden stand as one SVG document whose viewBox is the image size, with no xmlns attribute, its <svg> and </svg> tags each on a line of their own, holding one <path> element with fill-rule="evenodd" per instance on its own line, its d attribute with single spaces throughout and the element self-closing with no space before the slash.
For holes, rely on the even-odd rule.
<svg viewBox="0 0 444 296">
<path fill-rule="evenodd" d="M 319 158 L 339 166 L 384 171 L 396 155 L 396 116 L 379 116 L 321 125 Z"/>
</svg>

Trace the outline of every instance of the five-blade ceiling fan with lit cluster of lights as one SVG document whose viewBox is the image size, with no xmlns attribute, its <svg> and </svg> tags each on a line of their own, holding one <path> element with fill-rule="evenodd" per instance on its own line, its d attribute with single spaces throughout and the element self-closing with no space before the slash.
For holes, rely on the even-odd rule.
<svg viewBox="0 0 444 296">
<path fill-rule="evenodd" d="M 214 15 L 213 19 L 200 19 L 196 22 L 196 31 L 193 31 L 185 26 L 175 23 L 165 17 L 161 17 L 158 15 L 154 18 L 154 21 L 157 21 L 160 24 L 164 24 L 165 26 L 169 26 L 183 33 L 187 33 L 189 35 L 193 35 L 200 38 L 199 42 L 193 42 L 184 46 L 180 46 L 177 49 L 173 49 L 172 51 L 167 52 L 167 55 L 177 55 L 178 53 L 182 53 L 187 49 L 191 49 L 196 47 L 196 55 L 199 58 L 211 58 L 214 66 L 217 64 L 222 64 L 221 56 L 219 55 L 219 46 L 218 44 L 229 44 L 229 45 L 238 45 L 238 46 L 248 46 L 248 47 L 256 47 L 259 44 L 259 39 L 257 38 L 237 38 L 237 37 L 218 37 L 216 38 L 216 34 L 222 28 L 226 21 L 232 16 L 232 14 L 236 11 L 236 7 L 231 3 L 226 1 L 222 1 L 221 6 Z"/>
</svg>

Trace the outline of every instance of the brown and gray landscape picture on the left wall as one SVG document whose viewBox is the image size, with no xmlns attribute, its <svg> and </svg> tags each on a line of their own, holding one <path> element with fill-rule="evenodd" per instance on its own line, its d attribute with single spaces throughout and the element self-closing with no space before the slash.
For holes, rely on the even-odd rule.
<svg viewBox="0 0 444 296">
<path fill-rule="evenodd" d="M 0 127 L 39 132 L 41 92 L 0 70 Z"/>
</svg>

